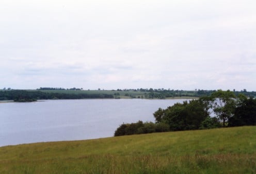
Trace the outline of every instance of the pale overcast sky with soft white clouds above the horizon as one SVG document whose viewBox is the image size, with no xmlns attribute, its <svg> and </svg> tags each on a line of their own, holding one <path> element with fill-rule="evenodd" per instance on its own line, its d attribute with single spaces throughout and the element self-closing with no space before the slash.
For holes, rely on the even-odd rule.
<svg viewBox="0 0 256 174">
<path fill-rule="evenodd" d="M 255 0 L 1 0 L 0 89 L 256 90 Z"/>
</svg>

